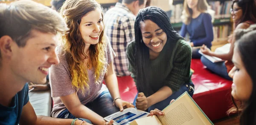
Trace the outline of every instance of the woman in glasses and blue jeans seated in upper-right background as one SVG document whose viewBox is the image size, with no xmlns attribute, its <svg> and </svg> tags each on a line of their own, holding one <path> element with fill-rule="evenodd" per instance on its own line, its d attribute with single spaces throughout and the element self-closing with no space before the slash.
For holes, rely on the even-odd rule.
<svg viewBox="0 0 256 125">
<path fill-rule="evenodd" d="M 256 23 L 256 11 L 254 10 L 254 8 L 256 8 L 255 0 L 233 0 L 230 12 L 234 21 L 235 31 L 237 29 L 246 29 L 251 24 Z M 202 53 L 204 53 L 205 55 L 215 56 L 227 61 L 212 63 L 204 56 L 201 57 L 201 61 L 207 67 L 207 69 L 220 75 L 223 78 L 232 80 L 232 78 L 228 76 L 228 72 L 230 72 L 230 70 L 234 66 L 231 61 L 235 42 L 235 38 L 233 37 L 233 35 L 231 35 L 229 41 L 231 44 L 229 53 L 214 53 L 204 45 L 201 48 Z"/>
</svg>

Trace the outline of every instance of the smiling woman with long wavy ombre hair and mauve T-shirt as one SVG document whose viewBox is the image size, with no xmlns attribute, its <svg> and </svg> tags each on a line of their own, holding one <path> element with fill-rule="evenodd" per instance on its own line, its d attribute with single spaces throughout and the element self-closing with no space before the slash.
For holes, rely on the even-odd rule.
<svg viewBox="0 0 256 125">
<path fill-rule="evenodd" d="M 52 117 L 82 117 L 111 125 L 113 120 L 105 122 L 103 117 L 134 106 L 120 98 L 102 8 L 95 0 L 66 0 L 60 14 L 70 31 L 61 37 L 57 50 L 60 64 L 49 72 Z"/>
</svg>

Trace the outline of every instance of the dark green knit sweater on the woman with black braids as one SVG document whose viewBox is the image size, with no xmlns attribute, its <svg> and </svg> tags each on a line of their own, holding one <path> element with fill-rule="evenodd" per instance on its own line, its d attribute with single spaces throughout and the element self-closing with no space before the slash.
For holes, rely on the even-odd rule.
<svg viewBox="0 0 256 125">
<path fill-rule="evenodd" d="M 133 41 L 128 44 L 126 55 L 129 60 L 131 77 L 137 83 L 134 54 L 135 42 Z M 145 76 L 148 76 L 148 86 L 152 88 L 153 92 L 157 92 L 163 86 L 169 86 L 172 92 L 176 92 L 182 84 L 192 82 L 191 56 L 192 50 L 186 41 L 182 39 L 177 42 L 167 40 L 159 56 L 149 62 L 148 72 L 145 72 L 147 73 Z"/>
</svg>

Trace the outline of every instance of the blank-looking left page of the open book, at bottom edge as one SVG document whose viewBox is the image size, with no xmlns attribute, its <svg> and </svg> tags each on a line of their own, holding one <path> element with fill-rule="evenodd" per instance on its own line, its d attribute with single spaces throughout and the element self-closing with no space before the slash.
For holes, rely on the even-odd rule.
<svg viewBox="0 0 256 125">
<path fill-rule="evenodd" d="M 130 125 L 162 125 L 157 116 L 145 117 L 141 119 L 136 119 L 130 123 Z"/>
</svg>

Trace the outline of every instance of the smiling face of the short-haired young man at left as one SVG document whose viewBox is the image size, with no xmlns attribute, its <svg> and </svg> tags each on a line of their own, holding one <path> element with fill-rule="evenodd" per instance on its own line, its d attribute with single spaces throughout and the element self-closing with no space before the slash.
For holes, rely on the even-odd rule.
<svg viewBox="0 0 256 125">
<path fill-rule="evenodd" d="M 58 64 L 55 53 L 57 37 L 52 33 L 42 33 L 32 30 L 32 37 L 24 47 L 12 46 L 10 71 L 20 82 L 46 83 L 48 69 L 52 64 Z"/>
</svg>

